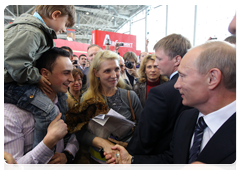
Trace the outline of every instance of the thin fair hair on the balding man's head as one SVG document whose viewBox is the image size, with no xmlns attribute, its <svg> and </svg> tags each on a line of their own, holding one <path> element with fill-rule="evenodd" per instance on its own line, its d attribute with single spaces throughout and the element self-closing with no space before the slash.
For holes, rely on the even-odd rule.
<svg viewBox="0 0 240 170">
<path fill-rule="evenodd" d="M 234 45 L 224 41 L 207 41 L 198 46 L 202 52 L 196 59 L 200 74 L 218 68 L 223 76 L 226 89 L 238 91 L 238 52 Z"/>
</svg>

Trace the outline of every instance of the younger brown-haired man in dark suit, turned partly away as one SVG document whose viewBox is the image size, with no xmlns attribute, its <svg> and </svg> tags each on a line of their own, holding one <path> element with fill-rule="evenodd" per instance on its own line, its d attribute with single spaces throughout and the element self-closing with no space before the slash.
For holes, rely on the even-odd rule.
<svg viewBox="0 0 240 170">
<path fill-rule="evenodd" d="M 180 34 L 171 34 L 159 40 L 155 46 L 156 64 L 160 74 L 169 78 L 150 89 L 141 118 L 127 146 L 130 154 L 160 154 L 169 149 L 175 122 L 186 109 L 174 84 L 178 79 L 178 66 L 187 50 L 189 40 Z"/>
</svg>

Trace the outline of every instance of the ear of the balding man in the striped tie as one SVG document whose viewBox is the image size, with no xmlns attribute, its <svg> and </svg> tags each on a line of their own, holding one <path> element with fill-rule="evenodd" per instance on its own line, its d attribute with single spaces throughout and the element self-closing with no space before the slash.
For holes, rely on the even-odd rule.
<svg viewBox="0 0 240 170">
<path fill-rule="evenodd" d="M 222 73 L 217 68 L 212 68 L 208 71 L 208 87 L 209 89 L 215 89 L 221 82 Z"/>
</svg>

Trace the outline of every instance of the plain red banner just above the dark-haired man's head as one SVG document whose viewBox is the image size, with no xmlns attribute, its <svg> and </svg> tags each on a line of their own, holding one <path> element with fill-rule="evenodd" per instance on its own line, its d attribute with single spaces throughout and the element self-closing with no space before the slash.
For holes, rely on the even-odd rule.
<svg viewBox="0 0 240 170">
<path fill-rule="evenodd" d="M 62 46 L 70 47 L 73 50 L 73 54 L 77 56 L 81 54 L 87 55 L 87 48 L 89 44 L 79 43 L 75 41 L 67 41 L 62 39 L 54 39 L 54 42 L 56 43 L 56 47 L 62 47 Z"/>
</svg>

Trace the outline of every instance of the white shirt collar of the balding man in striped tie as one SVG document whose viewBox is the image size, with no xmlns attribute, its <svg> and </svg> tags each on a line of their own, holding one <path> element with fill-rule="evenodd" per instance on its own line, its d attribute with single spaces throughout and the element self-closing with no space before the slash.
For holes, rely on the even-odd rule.
<svg viewBox="0 0 240 170">
<path fill-rule="evenodd" d="M 208 125 L 208 128 L 212 131 L 213 134 L 238 110 L 238 99 L 228 104 L 227 106 L 203 115 L 199 113 L 199 117 L 203 116 L 205 123 Z"/>
</svg>

